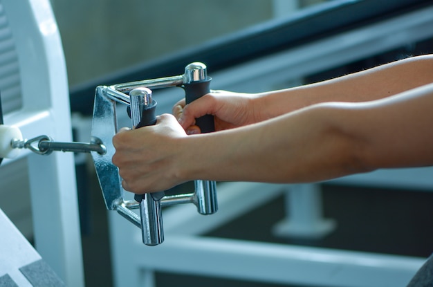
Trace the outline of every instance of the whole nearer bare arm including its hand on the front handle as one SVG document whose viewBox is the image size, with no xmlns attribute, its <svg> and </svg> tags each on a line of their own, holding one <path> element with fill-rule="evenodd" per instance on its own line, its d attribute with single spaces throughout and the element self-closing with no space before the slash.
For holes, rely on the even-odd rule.
<svg viewBox="0 0 433 287">
<path fill-rule="evenodd" d="M 316 104 L 216 133 L 186 136 L 171 115 L 118 133 L 125 189 L 187 180 L 302 183 L 382 167 L 433 165 L 433 84 L 373 102 Z M 128 156 L 129 155 L 129 156 Z"/>
</svg>

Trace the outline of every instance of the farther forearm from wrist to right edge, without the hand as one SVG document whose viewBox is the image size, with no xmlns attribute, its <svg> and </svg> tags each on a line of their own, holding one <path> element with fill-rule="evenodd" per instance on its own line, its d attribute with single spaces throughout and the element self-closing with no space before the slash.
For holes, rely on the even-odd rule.
<svg viewBox="0 0 433 287">
<path fill-rule="evenodd" d="M 320 102 L 365 102 L 432 82 L 433 56 L 403 59 L 366 71 L 292 89 L 261 93 L 262 118 L 273 118 Z"/>
</svg>

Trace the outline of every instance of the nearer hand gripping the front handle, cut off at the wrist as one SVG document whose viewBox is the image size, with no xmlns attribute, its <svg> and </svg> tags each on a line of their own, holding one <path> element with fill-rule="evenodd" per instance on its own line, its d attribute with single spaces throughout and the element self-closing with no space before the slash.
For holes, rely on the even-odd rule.
<svg viewBox="0 0 433 287">
<path fill-rule="evenodd" d="M 157 117 L 154 126 L 121 129 L 113 137 L 116 153 L 113 164 L 119 167 L 122 187 L 136 194 L 159 192 L 185 182 L 179 176 L 187 135 L 173 115 Z"/>
</svg>

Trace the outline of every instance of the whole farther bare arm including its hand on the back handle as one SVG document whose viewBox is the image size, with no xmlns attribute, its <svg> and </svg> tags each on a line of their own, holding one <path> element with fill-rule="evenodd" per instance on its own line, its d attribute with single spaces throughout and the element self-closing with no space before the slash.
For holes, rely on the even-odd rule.
<svg viewBox="0 0 433 287">
<path fill-rule="evenodd" d="M 292 89 L 259 94 L 211 93 L 186 107 L 181 101 L 173 112 L 187 131 L 199 132 L 192 126 L 194 118 L 205 114 L 216 116 L 217 130 L 230 129 L 320 102 L 365 102 L 386 98 L 429 84 L 432 75 L 433 55 L 424 55 Z"/>
</svg>

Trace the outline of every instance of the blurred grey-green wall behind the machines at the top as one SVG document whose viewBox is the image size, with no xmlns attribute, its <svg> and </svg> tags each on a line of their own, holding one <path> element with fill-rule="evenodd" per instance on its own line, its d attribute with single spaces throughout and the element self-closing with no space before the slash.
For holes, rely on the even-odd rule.
<svg viewBox="0 0 433 287">
<path fill-rule="evenodd" d="M 50 1 L 71 87 L 326 2 Z"/>
</svg>

